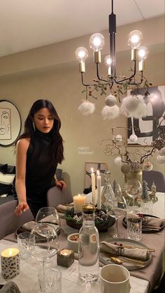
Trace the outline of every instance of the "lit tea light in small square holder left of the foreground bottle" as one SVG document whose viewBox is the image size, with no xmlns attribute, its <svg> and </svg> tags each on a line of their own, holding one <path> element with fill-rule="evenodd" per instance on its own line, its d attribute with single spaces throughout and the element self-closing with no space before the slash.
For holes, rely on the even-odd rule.
<svg viewBox="0 0 165 293">
<path fill-rule="evenodd" d="M 57 252 L 57 264 L 59 266 L 66 266 L 66 268 L 69 268 L 69 266 L 71 266 L 73 262 L 74 262 L 73 250 L 62 249 L 59 252 Z"/>
</svg>

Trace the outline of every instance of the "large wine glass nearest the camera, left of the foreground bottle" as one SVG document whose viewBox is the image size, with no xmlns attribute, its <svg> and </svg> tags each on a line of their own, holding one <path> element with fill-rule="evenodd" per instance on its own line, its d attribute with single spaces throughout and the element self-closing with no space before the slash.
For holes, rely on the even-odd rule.
<svg viewBox="0 0 165 293">
<path fill-rule="evenodd" d="M 31 256 L 43 262 L 43 271 L 45 263 L 50 262 L 59 250 L 59 239 L 55 227 L 46 223 L 35 223 L 34 229 L 31 230 L 31 236 L 34 235 L 34 247 L 31 249 Z"/>
</svg>

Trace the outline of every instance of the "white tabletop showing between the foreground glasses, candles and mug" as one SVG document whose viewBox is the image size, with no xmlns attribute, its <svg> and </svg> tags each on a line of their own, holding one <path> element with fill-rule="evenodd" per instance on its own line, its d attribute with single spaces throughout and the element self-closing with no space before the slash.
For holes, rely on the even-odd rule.
<svg viewBox="0 0 165 293">
<path fill-rule="evenodd" d="M 3 249 L 17 247 L 17 243 L 11 241 L 0 241 L 0 253 Z M 56 265 L 56 260 L 52 266 Z M 78 261 L 75 262 L 67 269 L 62 266 L 57 266 L 62 270 L 62 293 L 100 293 L 99 283 L 92 285 L 82 285 L 78 280 Z M 42 264 L 36 262 L 32 257 L 29 259 L 21 259 L 20 274 L 13 278 L 13 282 L 17 284 L 22 293 L 34 293 L 38 272 L 42 269 Z M 0 284 L 6 283 L 0 276 Z M 130 293 L 147 293 L 148 281 L 139 278 L 130 277 L 131 291 Z"/>
</svg>

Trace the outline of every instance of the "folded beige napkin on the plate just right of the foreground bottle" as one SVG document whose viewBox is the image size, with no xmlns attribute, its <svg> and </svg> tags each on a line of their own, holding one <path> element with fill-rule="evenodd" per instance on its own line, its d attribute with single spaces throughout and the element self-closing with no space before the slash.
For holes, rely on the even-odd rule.
<svg viewBox="0 0 165 293">
<path fill-rule="evenodd" d="M 100 251 L 108 252 L 110 255 L 121 255 L 123 257 L 131 257 L 143 260 L 148 260 L 150 257 L 150 252 L 148 249 L 124 248 L 120 245 L 115 245 L 106 241 L 101 242 Z"/>
</svg>

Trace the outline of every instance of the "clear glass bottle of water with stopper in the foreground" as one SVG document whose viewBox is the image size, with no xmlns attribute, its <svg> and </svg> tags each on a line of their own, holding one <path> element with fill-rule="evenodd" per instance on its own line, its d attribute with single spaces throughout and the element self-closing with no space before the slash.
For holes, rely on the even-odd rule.
<svg viewBox="0 0 165 293">
<path fill-rule="evenodd" d="M 94 225 L 94 205 L 82 207 L 78 241 L 78 271 L 82 283 L 99 280 L 99 232 Z"/>
</svg>

